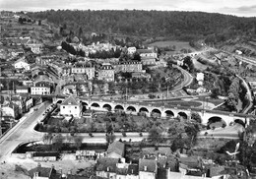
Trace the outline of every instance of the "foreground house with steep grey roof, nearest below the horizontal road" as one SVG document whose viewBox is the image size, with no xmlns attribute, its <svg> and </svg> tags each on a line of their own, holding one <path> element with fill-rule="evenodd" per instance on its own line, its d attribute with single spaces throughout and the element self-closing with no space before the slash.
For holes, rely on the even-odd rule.
<svg viewBox="0 0 256 179">
<path fill-rule="evenodd" d="M 110 158 L 123 158 L 125 145 L 119 141 L 115 141 L 108 146 L 107 157 Z"/>
</svg>

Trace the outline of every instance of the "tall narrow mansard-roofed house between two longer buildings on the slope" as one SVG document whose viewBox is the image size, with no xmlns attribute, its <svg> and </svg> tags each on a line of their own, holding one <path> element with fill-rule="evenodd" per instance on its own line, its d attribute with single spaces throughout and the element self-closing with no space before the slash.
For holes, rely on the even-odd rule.
<svg viewBox="0 0 256 179">
<path fill-rule="evenodd" d="M 110 63 L 103 63 L 97 72 L 97 79 L 106 81 L 106 82 L 113 82 L 114 81 L 114 68 Z"/>
</svg>

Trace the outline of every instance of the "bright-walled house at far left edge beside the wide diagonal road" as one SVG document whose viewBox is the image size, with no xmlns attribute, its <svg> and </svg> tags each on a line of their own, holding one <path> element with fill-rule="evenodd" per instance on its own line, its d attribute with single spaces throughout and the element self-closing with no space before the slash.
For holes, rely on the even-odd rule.
<svg viewBox="0 0 256 179">
<path fill-rule="evenodd" d="M 13 102 L 10 102 L 2 106 L 2 117 L 11 117 L 17 119 L 20 115 L 19 106 Z"/>
</svg>

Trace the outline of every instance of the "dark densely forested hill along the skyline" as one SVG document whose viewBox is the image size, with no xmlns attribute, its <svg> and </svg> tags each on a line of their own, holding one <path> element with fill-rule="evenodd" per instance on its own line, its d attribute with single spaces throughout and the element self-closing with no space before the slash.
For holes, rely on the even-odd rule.
<svg viewBox="0 0 256 179">
<path fill-rule="evenodd" d="M 75 33 L 104 32 L 180 38 L 237 33 L 255 35 L 256 18 L 203 12 L 168 11 L 71 11 L 50 10 L 29 13 L 33 19 L 47 20 Z"/>
</svg>

